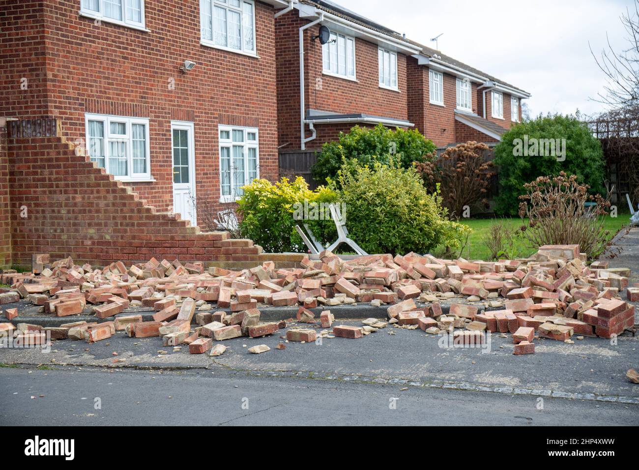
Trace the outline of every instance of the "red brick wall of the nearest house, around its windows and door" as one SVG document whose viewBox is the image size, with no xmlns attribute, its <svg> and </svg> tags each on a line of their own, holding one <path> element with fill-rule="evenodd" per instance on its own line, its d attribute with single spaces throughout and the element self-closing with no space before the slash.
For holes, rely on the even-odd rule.
<svg viewBox="0 0 639 470">
<path fill-rule="evenodd" d="M 29 37 L 29 45 L 20 46 L 19 55 L 7 58 L 3 52 L 3 65 L 14 61 L 22 69 L 3 80 L 3 89 L 14 87 L 15 78 L 27 72 L 42 79 L 40 61 L 33 67 L 22 64 L 31 60 L 31 51 L 37 52 L 36 58 L 44 53 L 43 42 L 48 77 L 44 88 L 29 87 L 28 93 L 12 88 L 15 100 L 3 103 L 0 113 L 58 118 L 68 141 L 85 137 L 84 113 L 150 118 L 155 182 L 127 185 L 161 210 L 173 206 L 171 120 L 195 123 L 198 194 L 213 198 L 220 194 L 218 123 L 259 127 L 260 175 L 277 178 L 272 6 L 256 2 L 259 58 L 252 58 L 200 44 L 197 0 L 146 1 L 149 32 L 105 21 L 96 26 L 93 20 L 79 17 L 79 4 L 80 0 L 45 0 L 33 3 L 33 8 L 29 4 L 27 10 L 18 0 L 0 0 L 4 20 L 12 25 L 10 45 Z M 47 29 L 44 39 L 43 27 Z M 197 66 L 182 75 L 178 66 L 185 59 Z M 171 79 L 174 90 L 168 86 Z"/>
</svg>

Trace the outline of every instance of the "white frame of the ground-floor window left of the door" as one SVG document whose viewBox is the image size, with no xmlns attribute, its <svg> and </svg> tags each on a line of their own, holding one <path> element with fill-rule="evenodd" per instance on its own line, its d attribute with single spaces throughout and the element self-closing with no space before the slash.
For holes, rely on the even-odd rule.
<svg viewBox="0 0 639 470">
<path fill-rule="evenodd" d="M 125 142 L 127 144 L 127 175 L 113 175 L 116 180 L 123 182 L 144 182 L 144 181 L 154 181 L 151 176 L 151 141 L 150 141 L 150 120 L 149 118 L 135 118 L 132 116 L 115 116 L 112 114 L 94 114 L 94 113 L 84 113 L 84 132 L 86 137 L 86 155 L 91 158 L 91 148 L 90 141 L 91 136 L 89 136 L 89 121 L 101 121 L 103 125 L 103 136 L 104 139 L 104 168 L 109 175 L 113 175 L 111 168 L 111 164 L 109 163 L 110 155 L 110 145 L 109 142 Z M 125 122 L 126 125 L 126 133 L 125 134 L 111 134 L 111 122 Z M 133 125 L 134 124 L 142 124 L 144 125 L 144 157 L 146 159 L 146 171 L 144 173 L 134 173 L 134 165 L 133 165 Z"/>
</svg>

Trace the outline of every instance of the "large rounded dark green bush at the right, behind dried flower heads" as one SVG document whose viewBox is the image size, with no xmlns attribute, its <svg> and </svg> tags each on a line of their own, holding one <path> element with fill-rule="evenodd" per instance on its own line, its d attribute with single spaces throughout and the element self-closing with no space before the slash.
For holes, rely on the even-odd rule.
<svg viewBox="0 0 639 470">
<path fill-rule="evenodd" d="M 550 152 L 535 151 L 534 143 L 539 143 L 540 139 L 566 139 L 565 155 L 559 157 L 563 161 L 558 161 Z M 530 152 L 526 152 L 522 144 L 525 141 Z M 555 153 L 557 150 L 556 147 Z M 535 156 L 525 156 L 525 153 Z M 547 154 L 537 156 L 539 153 Z M 590 194 L 605 194 L 601 145 L 578 116 L 540 115 L 514 125 L 495 147 L 495 166 L 500 185 L 495 207 L 497 214 L 516 215 L 518 198 L 526 192 L 525 184 L 539 176 L 557 176 L 561 171 L 576 175 L 578 182 L 589 185 Z"/>
</svg>

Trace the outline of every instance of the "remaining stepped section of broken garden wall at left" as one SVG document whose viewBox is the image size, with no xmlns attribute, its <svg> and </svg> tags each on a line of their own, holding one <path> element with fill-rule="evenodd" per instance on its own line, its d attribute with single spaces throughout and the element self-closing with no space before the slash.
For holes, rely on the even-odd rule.
<svg viewBox="0 0 639 470">
<path fill-rule="evenodd" d="M 76 154 L 61 137 L 8 139 L 8 187 L 12 258 L 29 267 L 33 253 L 52 259 L 107 265 L 158 259 L 236 269 L 258 265 L 261 247 L 229 239 L 227 232 L 200 233 L 176 215 L 158 212 L 139 196 Z M 2 173 L 0 173 L 1 175 Z M 26 207 L 26 214 L 21 207 Z M 26 217 L 22 217 L 26 215 Z M 292 267 L 301 255 L 277 258 Z"/>
</svg>

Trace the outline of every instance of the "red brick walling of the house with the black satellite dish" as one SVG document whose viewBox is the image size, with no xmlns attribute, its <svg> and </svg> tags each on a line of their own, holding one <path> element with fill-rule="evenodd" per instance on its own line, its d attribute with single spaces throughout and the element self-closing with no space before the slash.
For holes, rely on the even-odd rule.
<svg viewBox="0 0 639 470">
<path fill-rule="evenodd" d="M 298 12 L 282 15 L 275 20 L 277 42 L 277 98 L 279 145 L 285 149 L 300 148 L 300 51 L 299 28 L 308 21 Z M 406 89 L 406 56 L 397 54 L 397 85 L 399 91 L 379 86 L 378 46 L 355 39 L 355 75 L 357 81 L 341 79 L 322 73 L 322 48 L 319 40 L 312 41 L 319 26 L 305 31 L 304 78 L 305 107 L 339 114 L 363 113 L 395 119 L 408 119 L 408 90 Z M 318 86 L 321 80 L 321 87 Z M 320 89 L 321 88 L 321 89 Z M 353 124 L 327 126 L 316 124 L 318 138 L 307 148 L 318 148 L 335 139 L 334 129 L 350 129 Z M 323 129 L 326 128 L 326 129 Z M 311 132 L 307 126 L 307 137 Z"/>
</svg>

